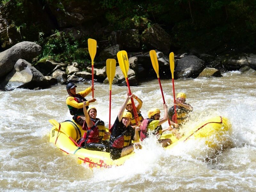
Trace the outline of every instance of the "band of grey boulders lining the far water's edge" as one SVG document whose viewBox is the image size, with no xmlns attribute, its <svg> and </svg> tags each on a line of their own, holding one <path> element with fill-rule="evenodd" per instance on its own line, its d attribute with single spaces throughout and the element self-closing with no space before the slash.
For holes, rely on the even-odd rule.
<svg viewBox="0 0 256 192">
<path fill-rule="evenodd" d="M 20 42 L 0 53 L 1 89 L 9 91 L 15 88 L 40 89 L 52 84 L 83 82 L 92 79 L 90 63 L 65 63 L 54 60 L 41 60 L 32 65 L 33 59 L 42 51 L 40 45 L 33 42 Z M 106 75 L 106 59 L 116 58 L 120 51 L 119 45 L 109 47 L 99 53 L 100 62 L 94 63 L 95 81 L 108 83 Z M 156 50 L 161 79 L 171 78 L 169 57 Z M 104 56 L 103 56 L 104 55 Z M 156 78 L 149 52 L 128 52 L 130 69 L 128 79 L 131 86 L 139 85 L 140 81 Z M 98 59 L 99 60 L 99 59 Z M 241 70 L 243 73 L 256 74 L 256 55 L 242 53 L 240 56 L 213 56 L 207 54 L 175 55 L 174 78 L 220 77 L 222 72 Z M 126 85 L 120 67 L 116 66 L 113 84 Z"/>
</svg>

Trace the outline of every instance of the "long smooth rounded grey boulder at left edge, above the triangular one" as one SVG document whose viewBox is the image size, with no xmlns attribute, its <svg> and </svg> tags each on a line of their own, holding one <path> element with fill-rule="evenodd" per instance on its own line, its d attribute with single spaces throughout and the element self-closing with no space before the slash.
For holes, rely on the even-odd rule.
<svg viewBox="0 0 256 192">
<path fill-rule="evenodd" d="M 42 52 L 40 45 L 23 41 L 0 53 L 0 78 L 12 71 L 19 59 L 31 61 Z"/>
</svg>

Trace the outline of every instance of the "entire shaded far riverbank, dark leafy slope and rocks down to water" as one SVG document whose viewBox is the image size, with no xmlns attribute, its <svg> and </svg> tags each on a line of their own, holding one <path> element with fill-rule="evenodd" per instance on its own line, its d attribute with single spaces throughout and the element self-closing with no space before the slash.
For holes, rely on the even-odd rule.
<svg viewBox="0 0 256 192">
<path fill-rule="evenodd" d="M 225 23 L 223 17 L 218 17 L 223 14 L 222 8 L 215 7 L 212 16 L 209 15 L 212 4 L 192 2 L 200 11 L 190 23 L 186 14 L 188 5 L 181 2 L 166 1 L 171 5 L 166 5 L 167 12 L 159 12 L 160 7 L 151 9 L 159 2 L 147 4 L 145 1 L 139 5 L 137 1 L 104 2 L 3 1 L 0 5 L 0 89 L 47 88 L 56 83 L 91 81 L 88 38 L 97 40 L 93 74 L 95 81 L 102 83 L 108 83 L 106 60 L 117 60 L 120 50 L 128 52 L 128 79 L 132 86 L 156 78 L 149 56 L 152 49 L 157 53 L 161 79 L 171 78 L 170 52 L 174 52 L 175 79 L 220 77 L 221 73 L 231 70 L 255 74 L 254 20 L 242 19 L 248 21 L 245 25 L 237 14 L 229 15 L 227 20 L 226 9 Z M 122 12 L 124 4 L 127 7 Z M 247 4 L 243 6 L 246 8 Z M 172 15 L 171 7 L 179 13 Z M 236 12 L 236 7 L 227 7 L 229 12 Z M 164 11 L 165 7 L 161 9 Z M 246 9 L 243 15 L 253 18 Z M 215 24 L 211 25 L 213 21 Z M 252 33 L 244 33 L 249 30 L 244 26 L 249 24 Z M 230 35 L 229 30 L 236 33 Z M 118 64 L 113 84 L 126 84 Z"/>
</svg>

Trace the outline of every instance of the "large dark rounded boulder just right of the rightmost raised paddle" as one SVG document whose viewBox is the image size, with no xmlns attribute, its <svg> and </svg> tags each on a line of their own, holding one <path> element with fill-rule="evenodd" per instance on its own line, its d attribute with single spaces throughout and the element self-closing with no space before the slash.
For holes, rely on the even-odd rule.
<svg viewBox="0 0 256 192">
<path fill-rule="evenodd" d="M 205 62 L 198 57 L 191 55 L 177 61 L 175 67 L 175 78 L 196 78 L 204 70 Z"/>
</svg>

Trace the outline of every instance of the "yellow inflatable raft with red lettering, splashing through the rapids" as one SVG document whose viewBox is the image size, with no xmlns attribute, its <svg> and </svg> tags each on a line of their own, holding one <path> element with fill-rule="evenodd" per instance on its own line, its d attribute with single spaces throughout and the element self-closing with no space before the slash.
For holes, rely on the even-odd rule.
<svg viewBox="0 0 256 192">
<path fill-rule="evenodd" d="M 54 143 L 56 147 L 67 154 L 75 154 L 78 157 L 78 163 L 80 164 L 86 163 L 90 168 L 109 168 L 113 165 L 118 166 L 124 164 L 126 159 L 131 158 L 134 155 L 134 153 L 132 153 L 113 161 L 107 152 L 78 148 L 74 141 L 81 138 L 85 132 L 80 125 L 70 120 L 60 124 L 53 119 L 49 121 L 53 125 L 50 132 L 50 142 Z M 180 142 L 186 142 L 190 139 L 206 138 L 206 144 L 210 148 L 218 150 L 220 143 L 223 145 L 228 142 L 227 135 L 230 130 L 231 125 L 228 123 L 228 120 L 224 117 L 216 116 L 198 124 L 188 132 L 185 132 L 179 140 L 172 134 L 163 134 L 161 139 L 170 138 L 172 140 L 172 144 L 166 147 L 166 149 L 169 149 Z M 208 138 L 209 140 L 207 140 Z"/>
</svg>

